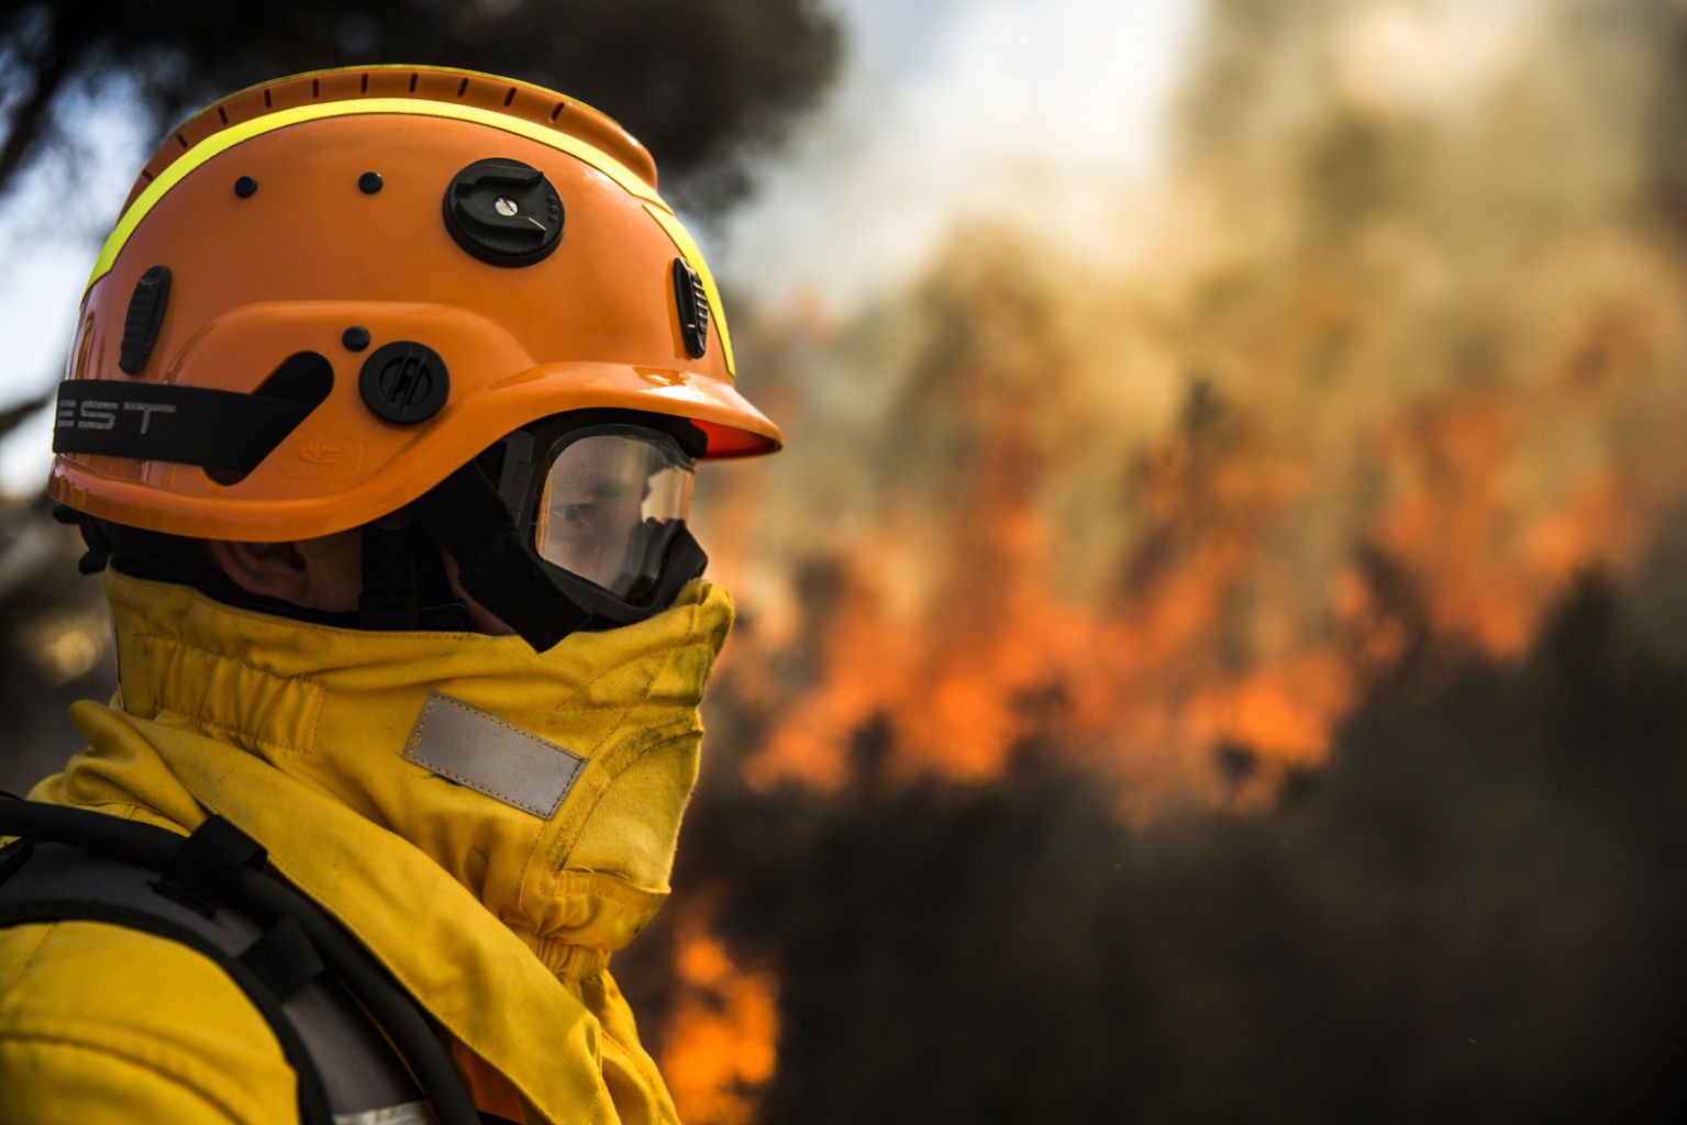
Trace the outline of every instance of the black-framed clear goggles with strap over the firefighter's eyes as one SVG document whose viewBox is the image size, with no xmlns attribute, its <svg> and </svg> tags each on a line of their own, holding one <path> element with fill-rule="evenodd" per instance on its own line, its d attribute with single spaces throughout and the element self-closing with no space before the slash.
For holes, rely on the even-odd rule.
<svg viewBox="0 0 1687 1125">
<path fill-rule="evenodd" d="M 444 587 L 430 573 L 434 543 L 464 592 L 536 651 L 655 616 L 709 562 L 685 523 L 703 447 L 683 418 L 624 410 L 577 410 L 506 435 L 364 530 L 363 626 L 430 627 L 427 602 Z"/>
</svg>

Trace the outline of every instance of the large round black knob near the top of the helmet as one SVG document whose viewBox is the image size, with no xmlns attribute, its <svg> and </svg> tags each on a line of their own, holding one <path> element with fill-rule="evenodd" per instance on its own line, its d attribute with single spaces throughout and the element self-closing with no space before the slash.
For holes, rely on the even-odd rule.
<svg viewBox="0 0 1687 1125">
<path fill-rule="evenodd" d="M 445 229 L 481 261 L 533 265 L 562 238 L 562 199 L 531 165 L 476 160 L 445 189 Z"/>
</svg>

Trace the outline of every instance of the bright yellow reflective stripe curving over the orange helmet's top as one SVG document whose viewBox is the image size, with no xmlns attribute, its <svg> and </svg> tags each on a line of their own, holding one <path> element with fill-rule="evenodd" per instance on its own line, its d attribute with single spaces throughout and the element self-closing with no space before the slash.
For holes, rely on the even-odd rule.
<svg viewBox="0 0 1687 1125">
<path fill-rule="evenodd" d="M 250 121 L 241 121 L 240 125 L 229 125 L 224 130 L 211 133 L 197 145 L 179 155 L 170 167 L 159 174 L 159 179 L 147 184 L 145 191 L 135 199 L 133 206 L 123 213 L 123 218 L 116 221 L 111 229 L 111 236 L 106 238 L 105 246 L 100 250 L 100 258 L 94 260 L 94 270 L 88 277 L 88 285 L 83 287 L 86 292 L 94 282 L 103 278 L 110 270 L 111 263 L 116 261 L 118 253 L 123 250 L 123 243 L 128 236 L 135 233 L 140 221 L 147 218 L 147 213 L 164 196 L 182 182 L 194 169 L 201 164 L 228 152 L 234 145 L 251 140 L 253 137 L 261 137 L 263 133 L 273 133 L 278 128 L 287 128 L 288 125 L 300 125 L 304 121 L 321 121 L 331 116 L 353 116 L 356 113 L 408 113 L 412 116 L 442 116 L 455 121 L 472 121 L 476 125 L 488 125 L 491 128 L 501 128 L 506 133 L 515 133 L 518 137 L 526 137 L 528 140 L 536 140 L 542 145 L 550 145 L 567 152 L 570 157 L 582 160 L 616 184 L 624 187 L 629 194 L 644 201 L 644 207 L 661 221 L 663 216 L 673 214 L 673 209 L 663 202 L 656 189 L 646 184 L 633 169 L 621 164 L 607 152 L 596 145 L 589 145 L 579 137 L 570 137 L 569 133 L 538 125 L 535 121 L 526 121 L 521 118 L 509 116 L 508 113 L 498 113 L 494 110 L 482 110 L 479 106 L 450 105 L 444 101 L 422 101 L 418 98 L 359 98 L 356 101 L 329 101 L 322 105 L 295 106 L 292 110 L 277 110 L 275 113 L 265 113 L 263 116 L 251 118 Z M 663 223 L 666 226 L 666 223 Z M 670 229 L 671 236 L 673 231 Z M 683 234 L 683 228 L 682 228 Z M 678 243 L 680 240 L 675 238 Z M 690 236 L 687 236 L 690 241 Z M 702 265 L 702 255 L 687 253 L 687 260 L 692 266 L 703 275 L 703 287 L 709 292 L 709 300 L 715 300 L 714 278 L 709 277 L 709 270 Z M 720 332 L 725 339 L 725 331 Z M 727 353 L 730 359 L 730 351 Z"/>
</svg>

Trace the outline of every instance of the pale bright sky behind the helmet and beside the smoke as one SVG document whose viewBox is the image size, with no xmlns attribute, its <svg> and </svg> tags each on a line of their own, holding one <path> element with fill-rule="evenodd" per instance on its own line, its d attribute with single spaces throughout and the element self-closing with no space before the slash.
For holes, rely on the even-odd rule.
<svg viewBox="0 0 1687 1125">
<path fill-rule="evenodd" d="M 1117 214 L 1161 152 L 1199 13 L 1198 0 L 832 3 L 847 40 L 837 86 L 759 169 L 756 197 L 698 229 L 717 272 L 763 305 L 847 312 L 918 270 L 957 224 L 1022 211 L 1026 197 L 1046 199 L 1063 231 Z M 98 123 L 96 159 L 76 169 L 73 199 L 51 175 L 0 206 L 0 261 L 27 263 L 0 272 L 0 406 L 61 373 L 100 236 L 145 159 L 123 103 L 110 89 L 78 113 Z M 37 489 L 49 442 L 42 410 L 0 444 L 0 489 Z"/>
</svg>

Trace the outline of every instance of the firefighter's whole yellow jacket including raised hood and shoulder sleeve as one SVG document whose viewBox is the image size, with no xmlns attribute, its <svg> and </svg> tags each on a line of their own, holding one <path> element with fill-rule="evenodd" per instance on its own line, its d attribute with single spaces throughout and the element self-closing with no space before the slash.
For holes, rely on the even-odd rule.
<svg viewBox="0 0 1687 1125">
<path fill-rule="evenodd" d="M 255 837 L 454 1037 L 482 1110 L 676 1120 L 607 963 L 668 892 L 724 590 L 545 654 L 106 592 L 118 695 L 71 710 L 89 749 L 32 798 Z M 98 923 L 0 929 L 0 1125 L 295 1120 L 280 1046 L 209 960 Z"/>
</svg>

